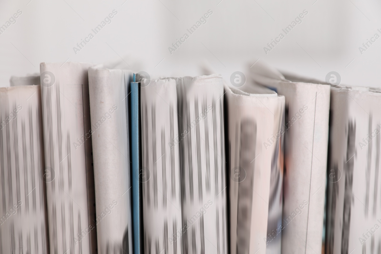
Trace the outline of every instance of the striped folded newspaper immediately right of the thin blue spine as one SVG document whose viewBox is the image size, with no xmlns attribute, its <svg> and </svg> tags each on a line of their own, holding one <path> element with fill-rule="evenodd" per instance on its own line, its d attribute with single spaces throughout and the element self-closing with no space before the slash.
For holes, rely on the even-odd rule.
<svg viewBox="0 0 381 254">
<path fill-rule="evenodd" d="M 176 81 L 141 86 L 144 253 L 181 252 L 181 193 Z"/>
</svg>

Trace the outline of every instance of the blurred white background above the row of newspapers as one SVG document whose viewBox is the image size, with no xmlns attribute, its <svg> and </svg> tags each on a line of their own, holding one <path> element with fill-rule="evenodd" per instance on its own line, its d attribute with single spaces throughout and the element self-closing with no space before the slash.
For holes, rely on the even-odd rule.
<svg viewBox="0 0 381 254">
<path fill-rule="evenodd" d="M 0 34 L 0 86 L 9 86 L 11 75 L 39 72 L 40 62 L 122 61 L 156 78 L 199 75 L 206 61 L 229 80 L 258 59 L 319 80 L 336 71 L 341 84 L 381 86 L 381 38 L 359 51 L 375 33 L 381 36 L 376 0 L 0 0 L 0 26 L 18 10 L 16 23 Z M 112 10 L 112 22 L 94 35 L 91 29 Z M 190 35 L 187 29 L 208 10 L 207 23 Z M 303 10 L 302 23 L 285 35 L 282 29 Z M 94 38 L 75 54 L 89 33 Z M 184 33 L 189 38 L 171 54 L 168 47 Z M 266 54 L 280 33 L 285 38 Z"/>
</svg>

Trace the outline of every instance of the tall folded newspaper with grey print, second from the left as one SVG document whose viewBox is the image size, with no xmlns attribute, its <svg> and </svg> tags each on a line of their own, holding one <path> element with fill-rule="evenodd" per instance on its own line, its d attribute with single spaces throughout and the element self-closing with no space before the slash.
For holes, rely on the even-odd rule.
<svg viewBox="0 0 381 254">
<path fill-rule="evenodd" d="M 50 252 L 96 252 L 88 68 L 41 63 Z"/>
</svg>

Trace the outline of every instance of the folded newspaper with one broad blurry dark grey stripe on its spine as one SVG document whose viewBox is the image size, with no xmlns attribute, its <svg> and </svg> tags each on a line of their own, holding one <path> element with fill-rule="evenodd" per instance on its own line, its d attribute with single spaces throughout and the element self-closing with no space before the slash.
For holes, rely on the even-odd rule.
<svg viewBox="0 0 381 254">
<path fill-rule="evenodd" d="M 250 83 L 225 91 L 231 253 L 280 254 L 285 97 Z"/>
</svg>

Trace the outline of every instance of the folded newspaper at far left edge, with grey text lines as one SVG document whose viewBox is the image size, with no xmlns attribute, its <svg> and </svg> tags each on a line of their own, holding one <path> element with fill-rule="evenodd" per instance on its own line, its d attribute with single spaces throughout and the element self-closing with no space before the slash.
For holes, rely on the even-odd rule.
<svg viewBox="0 0 381 254">
<path fill-rule="evenodd" d="M 0 253 L 49 253 L 40 86 L 0 88 Z"/>
</svg>

